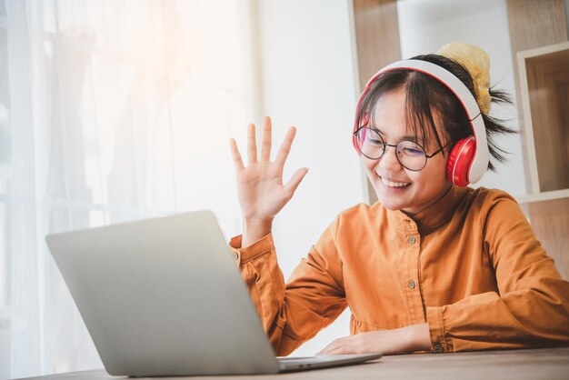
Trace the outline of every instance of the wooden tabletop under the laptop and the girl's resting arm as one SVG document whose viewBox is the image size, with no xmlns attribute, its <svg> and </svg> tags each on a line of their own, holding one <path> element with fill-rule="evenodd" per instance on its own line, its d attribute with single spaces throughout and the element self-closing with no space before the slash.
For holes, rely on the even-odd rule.
<svg viewBox="0 0 569 380">
<path fill-rule="evenodd" d="M 105 370 L 30 377 L 55 379 L 118 379 Z M 185 377 L 174 377 L 176 380 Z M 569 380 L 569 347 L 484 351 L 458 354 L 384 356 L 374 362 L 280 375 L 194 376 L 192 379 L 563 379 Z M 167 377 L 160 377 L 165 380 Z"/>
</svg>

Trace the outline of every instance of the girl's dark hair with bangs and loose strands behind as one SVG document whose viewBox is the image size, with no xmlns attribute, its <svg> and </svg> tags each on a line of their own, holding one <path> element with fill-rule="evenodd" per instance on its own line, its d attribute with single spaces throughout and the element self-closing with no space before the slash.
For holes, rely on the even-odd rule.
<svg viewBox="0 0 569 380">
<path fill-rule="evenodd" d="M 460 79 L 464 85 L 466 85 L 468 90 L 470 90 L 474 95 L 474 98 L 476 97 L 474 93 L 473 78 L 463 65 L 460 65 L 454 60 L 442 55 L 417 55 L 411 59 L 427 61 L 450 71 Z M 436 140 L 436 144 L 439 148 L 443 148 L 444 146 L 444 141 L 442 139 L 443 136 L 438 134 L 434 125 L 432 110 L 435 110 L 438 115 L 442 116 L 441 119 L 444 124 L 442 126 L 444 127 L 444 132 L 447 135 L 446 137 L 449 139 L 448 142 L 457 142 L 469 135 L 473 135 L 472 126 L 470 125 L 463 105 L 448 89 L 448 87 L 446 87 L 446 85 L 443 85 L 430 75 L 405 69 L 387 71 L 374 81 L 370 86 L 369 91 L 362 99 L 361 106 L 357 110 L 357 125 L 361 126 L 369 123 L 369 126 L 374 127 L 374 108 L 377 105 L 379 98 L 382 95 L 400 88 L 404 88 L 406 95 L 406 127 L 413 132 L 413 135 L 421 138 L 421 145 L 426 147 L 430 144 L 430 134 L 427 130 L 428 127 L 433 132 L 434 139 Z M 490 88 L 489 93 L 492 97 L 492 103 L 512 104 L 510 96 L 504 91 Z M 505 120 L 484 115 L 484 113 L 482 114 L 482 117 L 486 127 L 488 150 L 491 155 L 491 161 L 488 164 L 488 168 L 495 171 L 492 158 L 499 162 L 504 162 L 504 155 L 507 154 L 507 152 L 495 144 L 494 137 L 496 135 L 515 134 L 516 131 L 505 126 Z"/>
</svg>

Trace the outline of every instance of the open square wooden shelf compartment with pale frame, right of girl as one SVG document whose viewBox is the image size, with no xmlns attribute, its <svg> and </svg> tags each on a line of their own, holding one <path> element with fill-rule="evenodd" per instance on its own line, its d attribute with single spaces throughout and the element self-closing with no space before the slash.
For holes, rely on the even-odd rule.
<svg viewBox="0 0 569 380">
<path fill-rule="evenodd" d="M 518 52 L 530 193 L 569 188 L 569 42 Z"/>
</svg>

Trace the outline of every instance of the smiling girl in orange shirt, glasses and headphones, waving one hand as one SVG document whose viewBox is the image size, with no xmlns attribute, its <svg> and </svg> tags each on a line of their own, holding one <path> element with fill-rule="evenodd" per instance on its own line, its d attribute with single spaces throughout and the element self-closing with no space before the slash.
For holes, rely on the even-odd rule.
<svg viewBox="0 0 569 380">
<path fill-rule="evenodd" d="M 340 213 L 288 284 L 271 225 L 306 175 L 283 184 L 294 139 L 270 161 L 271 121 L 257 160 L 249 125 L 245 167 L 231 140 L 244 233 L 243 278 L 275 347 L 288 355 L 350 307 L 351 335 L 320 354 L 435 353 L 569 345 L 569 283 L 514 198 L 467 187 L 501 160 L 489 116 L 488 57 L 453 43 L 389 65 L 360 97 L 353 143 L 378 202 Z"/>
</svg>

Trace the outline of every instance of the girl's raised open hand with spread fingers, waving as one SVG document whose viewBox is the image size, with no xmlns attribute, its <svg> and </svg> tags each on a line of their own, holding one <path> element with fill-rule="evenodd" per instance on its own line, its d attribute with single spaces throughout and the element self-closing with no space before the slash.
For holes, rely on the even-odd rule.
<svg viewBox="0 0 569 380">
<path fill-rule="evenodd" d="M 296 187 L 308 172 L 307 168 L 298 169 L 286 185 L 283 183 L 283 170 L 286 157 L 293 145 L 296 128 L 291 126 L 286 132 L 275 161 L 271 161 L 271 119 L 263 120 L 263 144 L 261 159 L 257 160 L 255 125 L 250 124 L 247 131 L 248 166 L 235 143 L 230 140 L 231 154 L 237 177 L 237 193 L 244 219 L 242 246 L 255 243 L 256 240 L 271 231 L 273 219 L 284 205 L 292 198 Z"/>
</svg>

